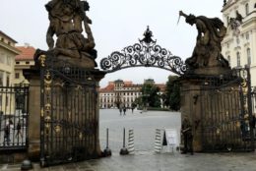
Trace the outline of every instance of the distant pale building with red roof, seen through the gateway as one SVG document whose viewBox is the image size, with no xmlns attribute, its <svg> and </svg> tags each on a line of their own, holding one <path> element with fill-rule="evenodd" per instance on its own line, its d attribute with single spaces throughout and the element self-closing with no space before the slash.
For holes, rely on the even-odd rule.
<svg viewBox="0 0 256 171">
<path fill-rule="evenodd" d="M 146 80 L 155 84 L 153 80 Z M 160 87 L 160 93 L 165 90 L 164 84 L 155 84 Z M 99 107 L 100 108 L 118 108 L 118 106 L 132 107 L 135 99 L 142 95 L 142 85 L 134 85 L 130 81 L 117 80 L 109 82 L 103 88 L 99 89 Z"/>
</svg>

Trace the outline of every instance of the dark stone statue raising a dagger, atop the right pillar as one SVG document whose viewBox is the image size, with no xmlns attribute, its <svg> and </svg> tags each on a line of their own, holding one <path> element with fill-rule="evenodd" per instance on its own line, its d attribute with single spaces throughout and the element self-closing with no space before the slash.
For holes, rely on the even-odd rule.
<svg viewBox="0 0 256 171">
<path fill-rule="evenodd" d="M 224 23 L 219 18 L 196 17 L 179 11 L 179 18 L 181 16 L 185 18 L 186 23 L 195 25 L 198 30 L 192 56 L 186 60 L 189 69 L 228 67 L 228 62 L 221 53 L 221 42 L 226 32 Z"/>
</svg>

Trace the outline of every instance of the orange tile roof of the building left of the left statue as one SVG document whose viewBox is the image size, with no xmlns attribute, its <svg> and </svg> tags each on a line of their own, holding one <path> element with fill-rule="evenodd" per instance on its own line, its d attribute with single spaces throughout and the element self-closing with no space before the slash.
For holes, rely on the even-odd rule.
<svg viewBox="0 0 256 171">
<path fill-rule="evenodd" d="M 16 46 L 22 53 L 15 57 L 15 60 L 23 61 L 23 60 L 33 60 L 33 54 L 35 53 L 35 49 L 32 46 Z"/>
</svg>

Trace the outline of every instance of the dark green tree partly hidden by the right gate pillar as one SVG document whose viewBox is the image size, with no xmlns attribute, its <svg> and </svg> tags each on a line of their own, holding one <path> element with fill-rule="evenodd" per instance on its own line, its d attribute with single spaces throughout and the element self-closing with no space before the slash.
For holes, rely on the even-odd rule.
<svg viewBox="0 0 256 171">
<path fill-rule="evenodd" d="M 169 76 L 163 95 L 164 105 L 172 110 L 180 109 L 180 83 L 177 76 Z"/>
</svg>

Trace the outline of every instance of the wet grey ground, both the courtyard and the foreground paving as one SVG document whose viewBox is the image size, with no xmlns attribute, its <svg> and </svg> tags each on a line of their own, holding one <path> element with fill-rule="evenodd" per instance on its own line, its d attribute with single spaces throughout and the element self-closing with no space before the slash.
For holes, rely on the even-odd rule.
<svg viewBox="0 0 256 171">
<path fill-rule="evenodd" d="M 116 109 L 100 110 L 99 140 L 105 147 L 105 129 L 109 129 L 109 147 L 112 156 L 72 164 L 40 168 L 45 171 L 256 171 L 256 153 L 195 153 L 180 154 L 166 146 L 154 152 L 156 129 L 180 129 L 177 112 L 143 112 L 128 110 L 126 115 Z M 119 155 L 123 128 L 134 130 L 135 154 Z M 128 138 L 126 137 L 126 140 Z M 21 170 L 21 163 L 1 164 L 0 170 Z"/>
</svg>

